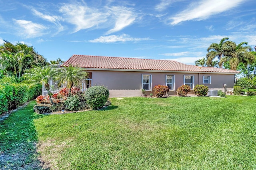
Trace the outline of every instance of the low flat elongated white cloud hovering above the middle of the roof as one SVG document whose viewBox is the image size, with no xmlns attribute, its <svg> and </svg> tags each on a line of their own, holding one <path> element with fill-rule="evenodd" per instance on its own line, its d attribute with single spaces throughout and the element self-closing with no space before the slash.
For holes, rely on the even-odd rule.
<svg viewBox="0 0 256 170">
<path fill-rule="evenodd" d="M 115 42 L 126 42 L 126 41 L 144 41 L 149 40 L 149 38 L 132 38 L 129 35 L 109 35 L 109 36 L 100 36 L 97 39 L 89 40 L 91 43 L 115 43 Z"/>
</svg>

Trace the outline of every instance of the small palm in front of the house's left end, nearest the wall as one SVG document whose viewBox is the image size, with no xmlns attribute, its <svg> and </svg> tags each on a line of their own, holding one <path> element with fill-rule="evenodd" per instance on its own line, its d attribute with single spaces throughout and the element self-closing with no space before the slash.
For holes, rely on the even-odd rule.
<svg viewBox="0 0 256 170">
<path fill-rule="evenodd" d="M 67 84 L 69 95 L 71 94 L 72 86 L 77 86 L 88 76 L 88 73 L 83 68 L 74 67 L 71 64 L 68 67 L 58 69 L 58 74 L 60 76 L 60 82 Z"/>
</svg>

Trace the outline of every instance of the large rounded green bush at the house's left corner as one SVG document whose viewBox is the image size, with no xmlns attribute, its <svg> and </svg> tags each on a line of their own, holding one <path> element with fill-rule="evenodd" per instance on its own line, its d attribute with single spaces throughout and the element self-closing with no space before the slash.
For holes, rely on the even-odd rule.
<svg viewBox="0 0 256 170">
<path fill-rule="evenodd" d="M 86 101 L 94 110 L 104 107 L 108 97 L 109 90 L 104 86 L 92 86 L 85 92 Z"/>
</svg>

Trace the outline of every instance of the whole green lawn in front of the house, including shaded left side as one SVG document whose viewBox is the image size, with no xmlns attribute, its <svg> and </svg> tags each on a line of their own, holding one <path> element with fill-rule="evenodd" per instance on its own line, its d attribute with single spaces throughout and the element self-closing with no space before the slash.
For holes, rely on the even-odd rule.
<svg viewBox="0 0 256 170">
<path fill-rule="evenodd" d="M 100 111 L 13 113 L 0 123 L 1 156 L 28 145 L 23 162 L 35 169 L 256 169 L 256 96 L 111 101 Z"/>
</svg>

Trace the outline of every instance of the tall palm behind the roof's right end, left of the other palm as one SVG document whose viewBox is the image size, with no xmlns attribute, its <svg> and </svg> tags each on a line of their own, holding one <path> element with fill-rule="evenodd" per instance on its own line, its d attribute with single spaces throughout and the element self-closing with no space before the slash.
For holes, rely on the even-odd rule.
<svg viewBox="0 0 256 170">
<path fill-rule="evenodd" d="M 222 64 L 223 64 L 223 58 L 225 57 L 225 51 L 223 49 L 223 45 L 224 45 L 224 41 L 228 40 L 228 37 L 224 37 L 220 40 L 220 43 L 212 43 L 208 49 L 207 49 L 207 54 L 206 54 L 206 58 L 207 58 L 207 65 L 211 65 L 212 61 L 217 57 L 219 62 L 219 66 L 220 68 L 222 68 Z"/>
</svg>

